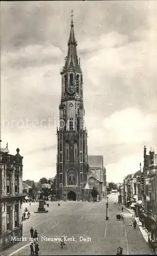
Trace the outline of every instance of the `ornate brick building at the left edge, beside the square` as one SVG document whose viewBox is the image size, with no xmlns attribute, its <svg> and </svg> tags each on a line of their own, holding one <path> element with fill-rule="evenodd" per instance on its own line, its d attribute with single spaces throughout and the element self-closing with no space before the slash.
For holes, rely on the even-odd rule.
<svg viewBox="0 0 157 256">
<path fill-rule="evenodd" d="M 11 237 L 23 234 L 23 157 L 1 148 L 1 249 L 13 245 Z"/>
</svg>

